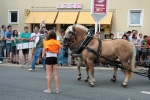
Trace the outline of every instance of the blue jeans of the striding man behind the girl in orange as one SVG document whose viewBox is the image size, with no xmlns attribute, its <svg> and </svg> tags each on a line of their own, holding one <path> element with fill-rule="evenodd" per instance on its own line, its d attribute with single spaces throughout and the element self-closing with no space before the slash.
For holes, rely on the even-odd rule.
<svg viewBox="0 0 150 100">
<path fill-rule="evenodd" d="M 36 60 L 37 60 L 37 59 L 39 58 L 39 56 L 42 54 L 42 50 L 43 50 L 43 48 L 36 48 L 36 51 L 35 51 L 35 53 L 34 53 L 33 60 L 32 60 L 31 69 L 35 69 Z M 42 58 L 42 63 L 43 63 L 44 69 L 46 70 L 45 59 L 44 59 L 44 58 Z"/>
</svg>

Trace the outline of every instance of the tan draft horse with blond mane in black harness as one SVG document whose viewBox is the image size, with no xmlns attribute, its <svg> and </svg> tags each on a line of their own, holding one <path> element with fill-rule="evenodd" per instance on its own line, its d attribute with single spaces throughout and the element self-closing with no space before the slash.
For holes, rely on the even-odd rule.
<svg viewBox="0 0 150 100">
<path fill-rule="evenodd" d="M 69 26 L 66 29 L 66 32 L 64 35 L 63 48 L 65 49 L 72 44 L 75 46 L 75 48 L 78 48 L 80 44 L 82 43 L 82 41 L 87 37 L 87 34 L 88 34 L 88 29 L 82 25 L 75 24 L 75 25 Z M 92 40 L 88 43 L 87 47 L 98 52 L 97 51 L 98 45 L 99 45 L 98 39 L 93 37 Z M 123 39 L 102 41 L 101 47 L 102 47 L 102 51 L 101 51 L 102 56 L 108 58 L 111 61 L 115 61 L 118 58 L 121 61 L 124 68 L 134 71 L 135 46 L 131 42 L 128 42 Z M 91 74 L 90 85 L 94 86 L 95 78 L 94 78 L 93 62 L 95 58 L 97 57 L 97 55 L 95 55 L 94 53 L 90 52 L 89 50 L 85 48 L 80 52 L 80 54 L 82 55 L 82 59 L 86 66 L 86 71 L 87 71 L 86 80 L 88 80 L 89 78 L 88 71 L 90 70 L 90 74 Z M 108 60 L 102 57 L 99 57 L 98 61 L 100 63 L 109 63 Z M 81 63 L 81 61 L 79 63 Z M 79 69 L 79 65 L 78 65 L 78 69 Z M 114 67 L 114 75 L 113 75 L 113 78 L 111 79 L 112 81 L 116 81 L 117 69 L 118 68 Z M 81 73 L 79 72 L 79 74 Z M 124 77 L 122 86 L 124 87 L 127 86 L 128 77 L 132 79 L 133 74 L 134 73 L 125 70 L 125 77 Z"/>
</svg>

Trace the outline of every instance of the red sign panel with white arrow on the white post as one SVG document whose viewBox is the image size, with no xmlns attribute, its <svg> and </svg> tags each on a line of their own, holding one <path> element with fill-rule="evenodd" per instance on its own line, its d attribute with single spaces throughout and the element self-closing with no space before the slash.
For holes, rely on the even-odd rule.
<svg viewBox="0 0 150 100">
<path fill-rule="evenodd" d="M 94 13 L 106 14 L 107 0 L 94 0 Z"/>
</svg>

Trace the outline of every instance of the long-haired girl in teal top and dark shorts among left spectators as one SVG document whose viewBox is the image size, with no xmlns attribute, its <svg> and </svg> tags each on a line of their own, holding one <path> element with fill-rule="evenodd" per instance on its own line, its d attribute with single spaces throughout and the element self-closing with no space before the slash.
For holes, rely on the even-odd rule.
<svg viewBox="0 0 150 100">
<path fill-rule="evenodd" d="M 19 50 L 17 50 L 17 47 L 16 47 L 16 44 L 19 42 L 18 40 L 18 31 L 17 30 L 14 30 L 13 31 L 13 35 L 11 37 L 11 40 L 12 40 L 12 56 L 13 56 L 13 64 L 17 63 L 19 64 Z"/>
</svg>

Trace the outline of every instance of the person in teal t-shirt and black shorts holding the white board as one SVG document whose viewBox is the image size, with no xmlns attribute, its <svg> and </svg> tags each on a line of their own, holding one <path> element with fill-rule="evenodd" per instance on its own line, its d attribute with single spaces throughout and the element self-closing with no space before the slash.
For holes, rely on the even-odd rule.
<svg viewBox="0 0 150 100">
<path fill-rule="evenodd" d="M 26 27 L 26 26 L 24 27 L 24 32 L 21 33 L 20 40 L 22 40 L 23 43 L 28 43 L 31 40 L 30 32 L 28 32 L 28 27 Z M 29 48 L 23 49 L 22 52 L 23 52 L 23 55 L 24 55 L 24 63 L 23 63 L 23 65 L 27 65 L 28 66 Z"/>
</svg>

